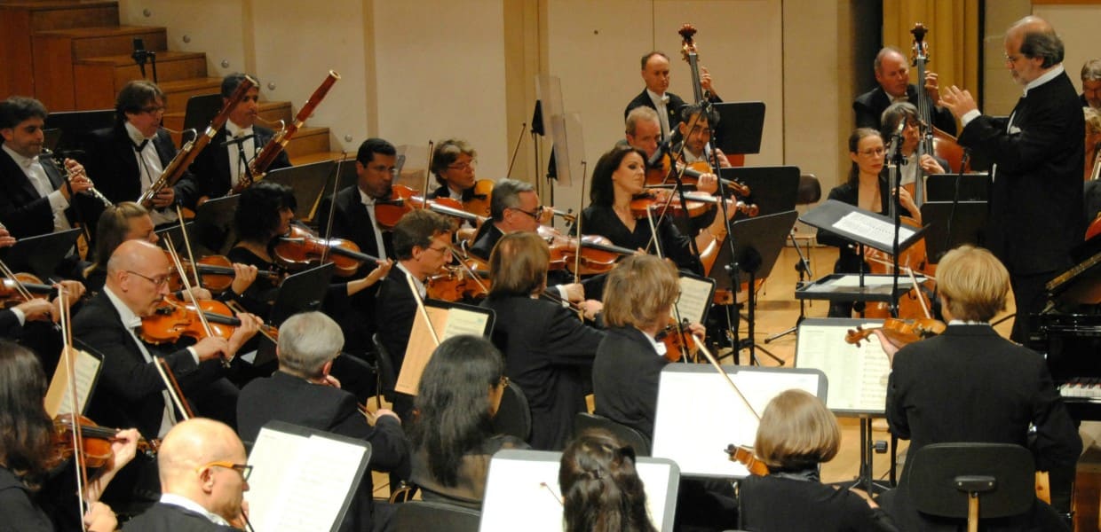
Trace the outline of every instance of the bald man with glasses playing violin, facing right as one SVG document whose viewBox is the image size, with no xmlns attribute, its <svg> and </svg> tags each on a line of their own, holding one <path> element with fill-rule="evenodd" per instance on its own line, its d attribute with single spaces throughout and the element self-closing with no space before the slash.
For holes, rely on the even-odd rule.
<svg viewBox="0 0 1101 532">
<path fill-rule="evenodd" d="M 168 258 L 143 241 L 127 241 L 107 263 L 103 291 L 73 320 L 74 335 L 103 355 L 88 415 L 106 426 L 137 426 L 145 437 L 165 434 L 179 417 L 166 398 L 153 356 L 167 363 L 199 413 L 233 423 L 237 388 L 225 378 L 224 359 L 257 333 L 260 320 L 241 314 L 242 326 L 227 341 L 206 337 L 161 353 L 140 337 L 142 318 L 168 293 Z"/>
</svg>

